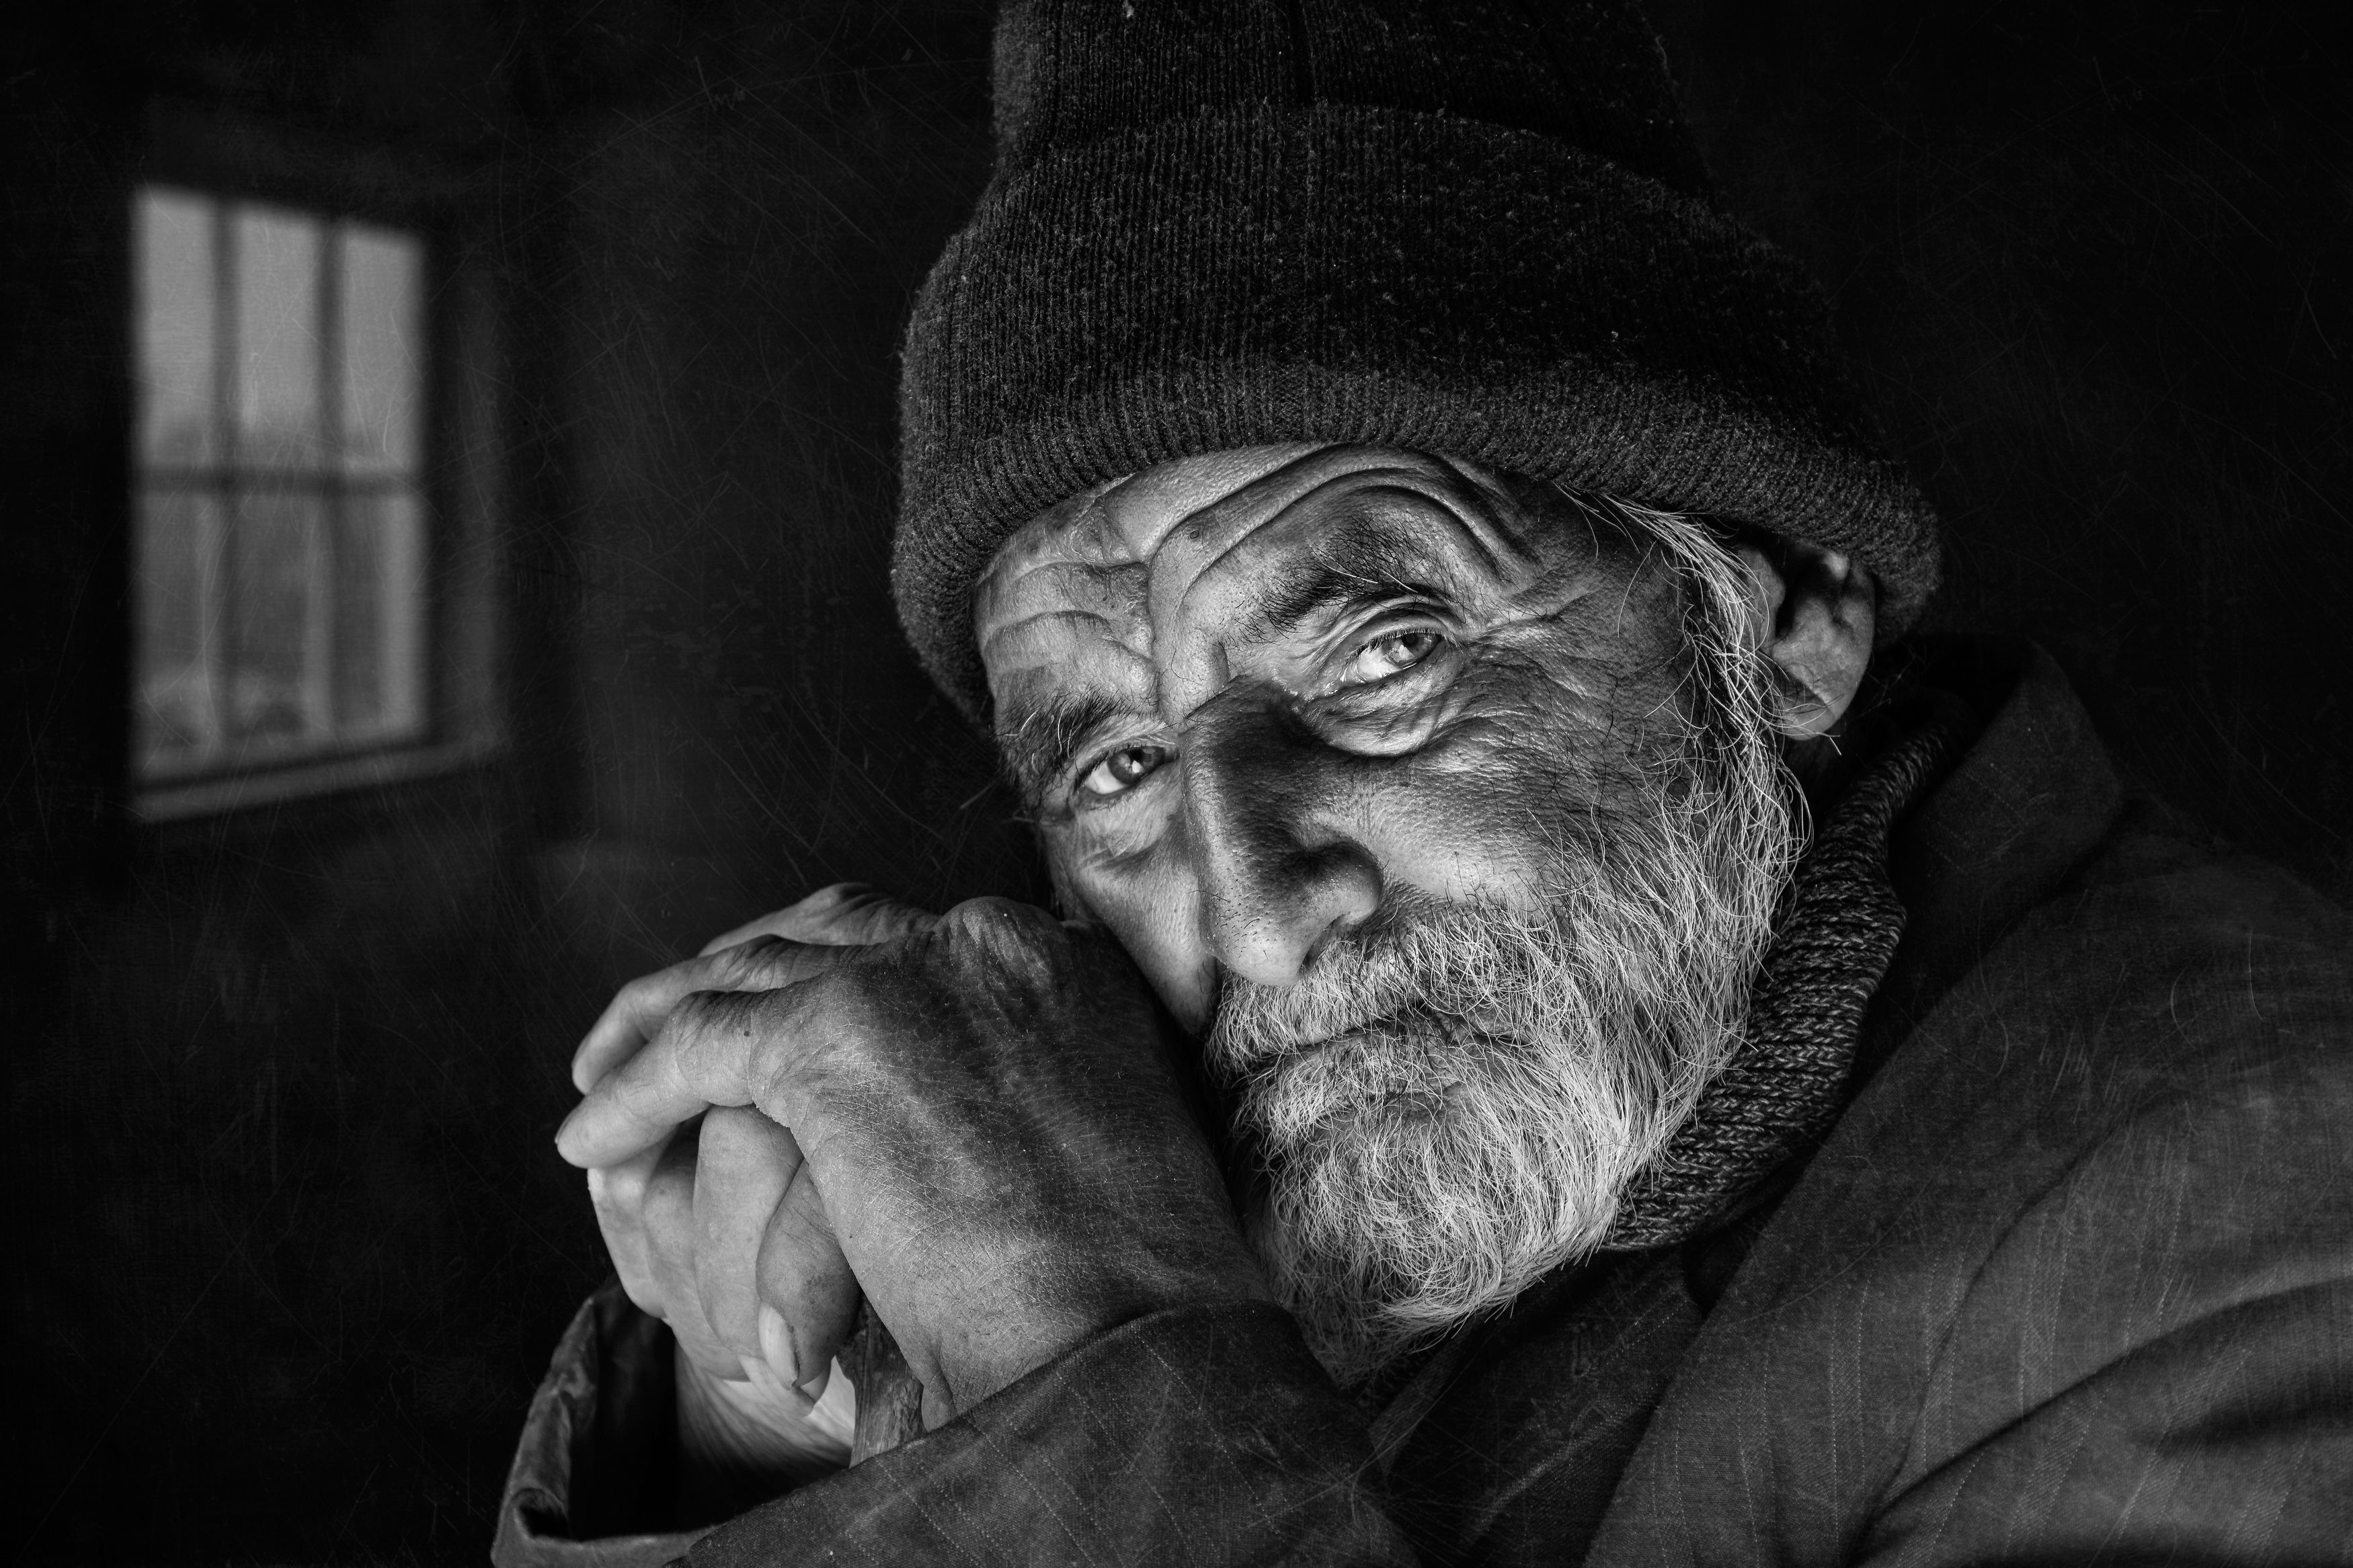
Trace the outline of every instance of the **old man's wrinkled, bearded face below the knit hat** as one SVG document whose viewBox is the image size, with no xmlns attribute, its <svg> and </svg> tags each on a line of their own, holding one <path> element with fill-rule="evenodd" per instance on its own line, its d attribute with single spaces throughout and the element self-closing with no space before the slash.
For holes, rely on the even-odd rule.
<svg viewBox="0 0 2353 1568">
<path fill-rule="evenodd" d="M 1075 496 L 979 585 L 1056 882 L 1207 1037 L 1348 1371 L 1591 1246 L 1737 1039 L 1793 844 L 1739 583 L 1280 447 Z"/>
</svg>

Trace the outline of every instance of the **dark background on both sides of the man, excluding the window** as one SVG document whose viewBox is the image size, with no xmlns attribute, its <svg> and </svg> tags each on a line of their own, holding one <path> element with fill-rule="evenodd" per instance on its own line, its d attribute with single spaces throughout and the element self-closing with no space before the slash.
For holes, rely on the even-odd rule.
<svg viewBox="0 0 2353 1568">
<path fill-rule="evenodd" d="M 2327 12 L 1654 7 L 1725 200 L 1835 294 L 1944 510 L 1934 623 L 2040 637 L 2132 769 L 2344 898 Z M 609 990 L 835 877 L 1035 893 L 885 595 L 896 334 L 986 174 L 986 14 L 87 0 L 0 40 L 0 1540 L 480 1561 L 602 1274 L 548 1135 Z M 191 122 L 454 193 L 506 343 L 487 762 L 127 811 L 125 214 Z"/>
</svg>

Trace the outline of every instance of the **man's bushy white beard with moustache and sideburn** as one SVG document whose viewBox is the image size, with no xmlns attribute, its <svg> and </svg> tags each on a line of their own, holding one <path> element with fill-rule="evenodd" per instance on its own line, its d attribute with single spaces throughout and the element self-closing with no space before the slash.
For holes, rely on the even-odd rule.
<svg viewBox="0 0 2353 1568">
<path fill-rule="evenodd" d="M 1697 583 L 1675 766 L 1562 825 L 1546 910 L 1407 891 L 1297 985 L 1226 983 L 1247 1229 L 1341 1385 L 1591 1253 L 1741 1041 L 1802 809 L 1737 592 Z"/>
</svg>

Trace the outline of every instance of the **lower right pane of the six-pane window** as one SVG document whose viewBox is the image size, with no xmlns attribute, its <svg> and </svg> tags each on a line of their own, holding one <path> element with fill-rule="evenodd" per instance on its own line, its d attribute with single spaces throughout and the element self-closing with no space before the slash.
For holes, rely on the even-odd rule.
<svg viewBox="0 0 2353 1568">
<path fill-rule="evenodd" d="M 346 498 L 334 552 L 334 698 L 351 741 L 424 726 L 424 557 L 414 491 Z"/>
</svg>

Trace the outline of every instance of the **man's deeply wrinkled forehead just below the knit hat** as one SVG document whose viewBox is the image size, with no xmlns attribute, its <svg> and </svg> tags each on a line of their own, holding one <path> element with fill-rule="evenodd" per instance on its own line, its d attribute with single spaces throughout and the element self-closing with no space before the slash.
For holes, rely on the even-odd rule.
<svg viewBox="0 0 2353 1568">
<path fill-rule="evenodd" d="M 974 592 L 991 696 L 1085 679 L 1151 705 L 1155 654 L 1264 625 L 1285 567 L 1358 545 L 1511 574 L 1501 480 L 1379 447 L 1249 447 L 1071 496 L 1016 531 Z M 1358 562 L 1362 564 L 1362 559 Z"/>
</svg>

